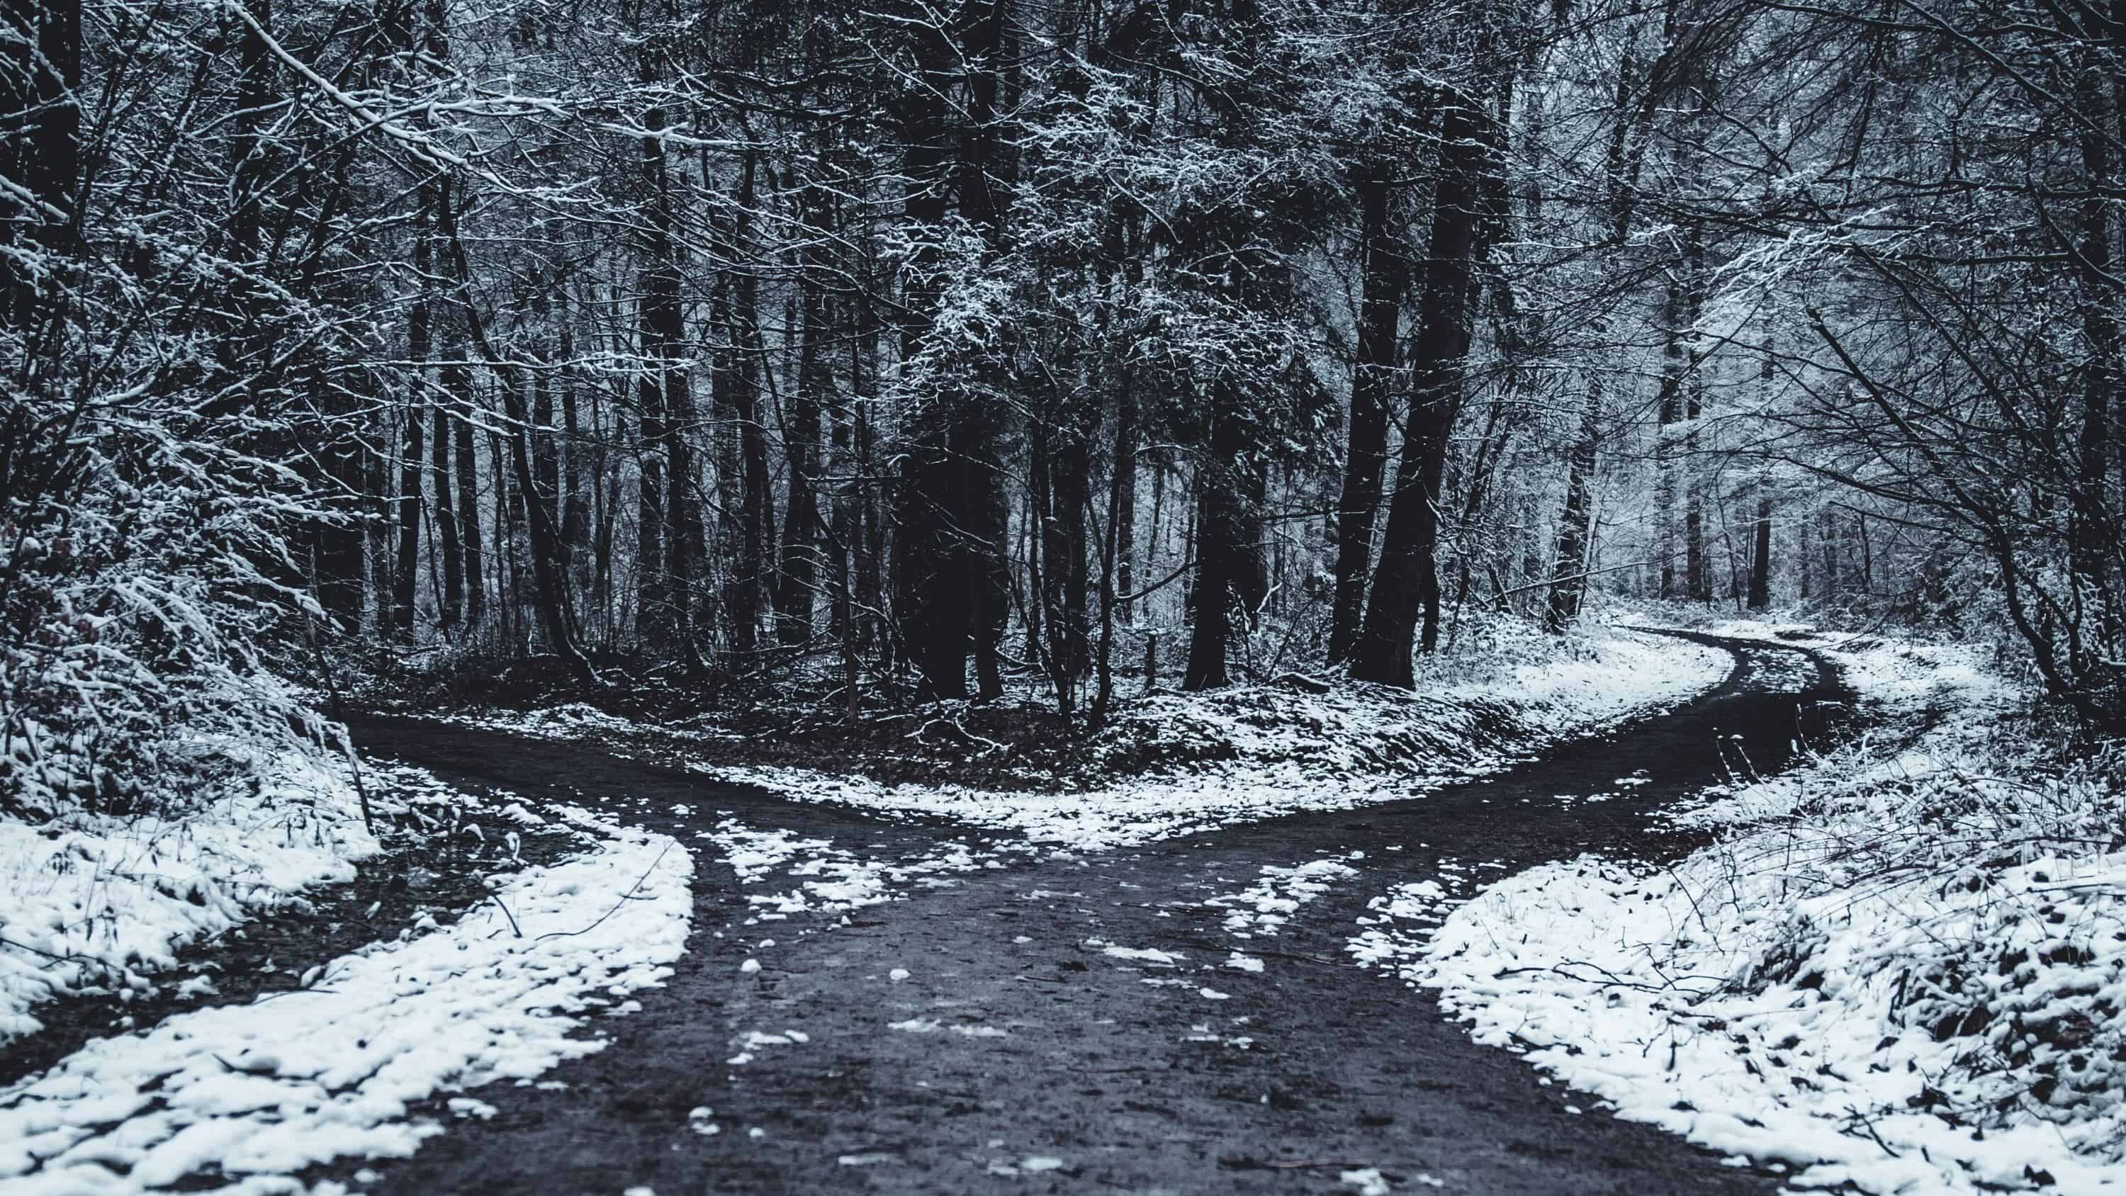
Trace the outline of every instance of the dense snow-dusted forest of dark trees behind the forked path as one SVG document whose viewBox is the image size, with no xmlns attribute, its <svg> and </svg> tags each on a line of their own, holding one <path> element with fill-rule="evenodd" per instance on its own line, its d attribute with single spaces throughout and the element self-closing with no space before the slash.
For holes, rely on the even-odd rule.
<svg viewBox="0 0 2126 1196">
<path fill-rule="evenodd" d="M 1099 722 L 1592 593 L 1945 627 L 2126 718 L 2120 8 L 4 30 L 11 788 L 319 735 L 259 665 Z"/>
</svg>

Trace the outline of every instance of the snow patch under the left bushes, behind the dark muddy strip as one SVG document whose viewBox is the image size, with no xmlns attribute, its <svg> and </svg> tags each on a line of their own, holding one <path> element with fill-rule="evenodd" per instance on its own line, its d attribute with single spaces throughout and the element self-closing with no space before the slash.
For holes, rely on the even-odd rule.
<svg viewBox="0 0 2126 1196">
<path fill-rule="evenodd" d="M 62 994 L 151 994 L 176 952 L 302 907 L 381 848 L 344 771 L 289 754 L 257 792 L 170 816 L 0 820 L 0 1045 Z"/>
</svg>

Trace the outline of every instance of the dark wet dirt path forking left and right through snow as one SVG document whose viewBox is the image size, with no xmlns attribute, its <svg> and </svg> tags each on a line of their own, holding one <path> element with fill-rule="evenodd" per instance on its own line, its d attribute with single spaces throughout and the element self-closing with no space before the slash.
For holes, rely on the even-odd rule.
<svg viewBox="0 0 2126 1196">
<path fill-rule="evenodd" d="M 1359 1192 L 1342 1173 L 1373 1168 L 1390 1192 L 1773 1192 L 1771 1175 L 1612 1120 L 1471 1043 L 1431 992 L 1346 952 L 1367 901 L 1399 884 L 1467 892 L 1577 852 L 1677 850 L 1656 835 L 1654 809 L 1722 780 L 1722 752 L 1777 767 L 1816 718 L 1811 703 L 1835 697 L 1828 671 L 1796 669 L 1792 650 L 1718 644 L 1737 667 L 1711 695 L 1490 782 L 1137 850 L 1018 854 L 848 924 L 808 913 L 746 924 L 733 869 L 697 831 L 731 811 L 882 858 L 935 852 L 965 831 L 787 803 L 583 748 L 364 722 L 368 750 L 457 784 L 625 795 L 619 814 L 699 843 L 699 860 L 691 950 L 640 1011 L 597 1020 L 604 1052 L 544 1077 L 566 1088 L 474 1092 L 497 1109 L 491 1120 L 455 1122 L 412 1160 L 372 1164 L 378 1175 L 359 1188 Z M 1796 673 L 1813 680 L 1782 680 Z M 1563 801 L 1599 792 L 1614 797 Z M 1318 865 L 1322 890 L 1273 937 L 1242 918 L 1259 911 L 1252 901 L 1205 905 L 1276 886 L 1282 873 L 1265 869 L 1324 858 L 1354 873 Z M 1231 967 L 1233 952 L 1261 971 Z M 742 971 L 748 958 L 761 969 Z"/>
</svg>

